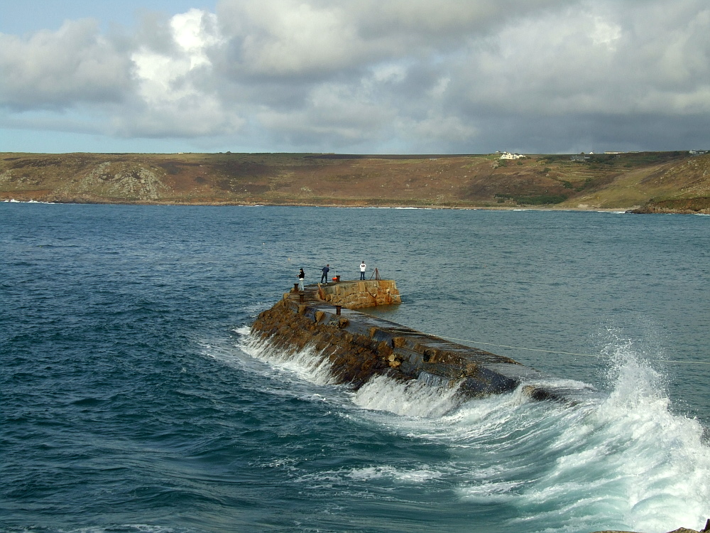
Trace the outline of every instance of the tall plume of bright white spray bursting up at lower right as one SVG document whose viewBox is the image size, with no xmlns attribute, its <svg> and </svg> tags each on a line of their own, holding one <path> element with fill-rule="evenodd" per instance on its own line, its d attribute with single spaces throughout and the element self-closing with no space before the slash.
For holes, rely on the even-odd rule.
<svg viewBox="0 0 710 533">
<path fill-rule="evenodd" d="M 613 388 L 593 420 L 616 456 L 609 466 L 625 493 L 628 523 L 648 531 L 669 523 L 699 529 L 710 516 L 710 448 L 701 425 L 672 414 L 665 377 L 633 342 L 611 343 L 605 352 Z"/>
</svg>

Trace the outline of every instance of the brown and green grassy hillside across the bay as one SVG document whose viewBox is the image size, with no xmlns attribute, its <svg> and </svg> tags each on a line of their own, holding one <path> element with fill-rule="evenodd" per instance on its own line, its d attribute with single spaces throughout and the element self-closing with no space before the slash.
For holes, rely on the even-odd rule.
<svg viewBox="0 0 710 533">
<path fill-rule="evenodd" d="M 0 200 L 709 212 L 710 156 L 0 153 Z"/>
</svg>

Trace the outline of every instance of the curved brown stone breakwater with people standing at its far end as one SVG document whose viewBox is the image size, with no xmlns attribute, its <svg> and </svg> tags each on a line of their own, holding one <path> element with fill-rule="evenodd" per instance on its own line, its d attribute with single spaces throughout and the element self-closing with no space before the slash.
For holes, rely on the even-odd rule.
<svg viewBox="0 0 710 533">
<path fill-rule="evenodd" d="M 511 391 L 523 384 L 534 399 L 574 399 L 579 391 L 542 384 L 551 378 L 501 355 L 452 343 L 356 308 L 399 303 L 392 280 L 342 281 L 296 287 L 263 311 L 251 332 L 287 356 L 306 348 L 328 360 L 339 383 L 358 388 L 368 379 L 418 379 L 458 387 L 462 397 Z"/>
</svg>

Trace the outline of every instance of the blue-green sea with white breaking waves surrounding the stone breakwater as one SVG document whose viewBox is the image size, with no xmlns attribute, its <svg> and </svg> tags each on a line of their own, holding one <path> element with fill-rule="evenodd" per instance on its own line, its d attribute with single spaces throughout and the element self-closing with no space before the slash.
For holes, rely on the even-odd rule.
<svg viewBox="0 0 710 533">
<path fill-rule="evenodd" d="M 710 518 L 710 217 L 0 204 L 0 532 L 592 532 Z M 249 335 L 329 263 L 589 391 L 332 383 Z M 368 276 L 371 271 L 368 272 Z"/>
</svg>

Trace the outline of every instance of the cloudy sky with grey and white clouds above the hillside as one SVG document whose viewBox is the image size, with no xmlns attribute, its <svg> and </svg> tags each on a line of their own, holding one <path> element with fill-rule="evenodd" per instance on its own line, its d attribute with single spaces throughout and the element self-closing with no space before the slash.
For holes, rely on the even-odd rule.
<svg viewBox="0 0 710 533">
<path fill-rule="evenodd" d="M 0 151 L 676 149 L 708 0 L 0 0 Z"/>
</svg>

